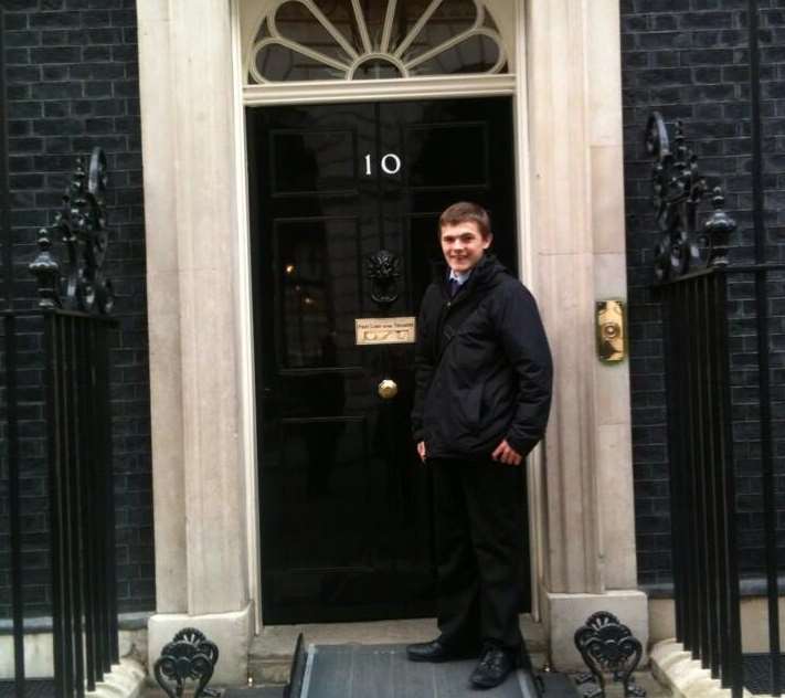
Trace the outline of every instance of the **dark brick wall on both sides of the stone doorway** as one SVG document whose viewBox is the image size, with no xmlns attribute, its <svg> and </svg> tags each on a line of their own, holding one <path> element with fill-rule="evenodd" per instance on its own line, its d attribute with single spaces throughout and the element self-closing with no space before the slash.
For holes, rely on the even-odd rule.
<svg viewBox="0 0 785 698">
<path fill-rule="evenodd" d="M 785 246 L 785 0 L 761 0 L 764 186 L 767 257 Z M 9 135 L 10 223 L 17 265 L 15 294 L 34 296 L 25 266 L 35 231 L 51 223 L 74 157 L 102 146 L 109 161 L 108 274 L 120 320 L 113 362 L 117 554 L 120 607 L 152 609 L 149 387 L 145 318 L 145 242 L 134 0 L 1 0 Z M 659 306 L 651 290 L 656 242 L 650 162 L 643 131 L 653 109 L 687 135 L 711 183 L 740 223 L 732 261 L 752 258 L 752 179 L 747 0 L 620 0 L 629 334 L 634 424 L 636 533 L 639 579 L 670 580 L 668 464 Z M 566 60 L 566 57 L 565 57 Z M 6 253 L 8 250 L 4 251 Z M 772 285 L 773 350 L 785 350 L 782 284 Z M 755 442 L 754 309 L 749 283 L 731 296 L 734 429 L 740 472 L 740 525 L 747 572 L 760 567 L 761 491 Z M 38 348 L 31 330 L 28 349 Z M 774 356 L 774 355 L 773 355 Z M 774 358 L 775 389 L 785 362 Z M 32 381 L 34 382 L 34 381 Z M 775 419 L 785 410 L 775 390 Z M 34 416 L 34 415 L 33 415 Z M 779 424 L 779 422 L 776 422 Z M 25 497 L 25 593 L 46 610 L 46 527 L 40 467 L 42 425 L 30 419 Z M 781 430 L 783 431 L 783 430 Z M 38 438 L 38 441 L 36 441 Z M 781 463 L 785 446 L 777 445 Z M 38 458 L 38 461 L 36 461 Z M 39 463 L 38 469 L 35 464 Z M 782 464 L 781 464 L 782 466 Z M 0 501 L 4 501 L 0 475 Z M 785 487 L 782 488 L 785 491 Z M 4 522 L 0 504 L 0 524 Z M 0 617 L 8 615 L 7 527 L 0 526 Z"/>
</svg>

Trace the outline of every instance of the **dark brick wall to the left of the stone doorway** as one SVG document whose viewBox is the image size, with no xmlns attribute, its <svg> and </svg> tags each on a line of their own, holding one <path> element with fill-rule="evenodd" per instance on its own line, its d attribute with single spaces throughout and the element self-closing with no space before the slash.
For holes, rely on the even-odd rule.
<svg viewBox="0 0 785 698">
<path fill-rule="evenodd" d="M 120 328 L 112 349 L 114 467 L 120 610 L 155 607 L 145 231 L 135 0 L 0 0 L 4 10 L 9 221 L 17 307 L 34 303 L 26 272 L 38 228 L 52 223 L 76 156 L 107 154 L 107 275 Z M 0 234 L 3 237 L 8 231 Z M 3 250 L 4 253 L 8 250 Z M 7 279 L 6 279 L 7 281 Z M 39 339 L 25 337 L 31 359 Z M 25 380 L 35 382 L 35 376 Z M 22 487 L 28 612 L 45 613 L 47 579 L 43 424 L 35 400 L 23 424 Z M 0 497 L 4 493 L 0 472 Z M 2 497 L 4 499 L 4 497 Z M 0 520 L 2 508 L 0 505 Z M 7 528 L 4 529 L 7 530 Z M 4 531 L 3 531 L 4 532 Z M 0 537 L 0 617 L 8 559 Z"/>
</svg>

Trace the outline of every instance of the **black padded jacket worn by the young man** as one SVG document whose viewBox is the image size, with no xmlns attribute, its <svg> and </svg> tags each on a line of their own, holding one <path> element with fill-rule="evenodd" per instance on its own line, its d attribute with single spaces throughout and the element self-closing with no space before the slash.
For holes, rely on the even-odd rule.
<svg viewBox="0 0 785 698">
<path fill-rule="evenodd" d="M 492 254 L 450 298 L 447 274 L 417 319 L 412 431 L 428 458 L 527 455 L 545 431 L 553 367 L 537 303 Z"/>
</svg>

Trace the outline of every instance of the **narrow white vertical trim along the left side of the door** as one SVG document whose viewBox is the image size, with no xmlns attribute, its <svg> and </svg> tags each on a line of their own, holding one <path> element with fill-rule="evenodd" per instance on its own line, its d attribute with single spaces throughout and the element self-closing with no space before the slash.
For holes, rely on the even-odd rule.
<svg viewBox="0 0 785 698">
<path fill-rule="evenodd" d="M 234 78 L 235 200 L 237 205 L 236 288 L 240 426 L 244 456 L 245 510 L 247 517 L 248 593 L 253 603 L 254 631 L 262 627 L 262 574 L 258 496 L 258 454 L 256 436 L 256 380 L 254 367 L 253 293 L 251 286 L 251 228 L 248 222 L 248 168 L 243 105 L 243 56 L 237 0 L 230 3 L 232 31 L 232 72 Z"/>
</svg>

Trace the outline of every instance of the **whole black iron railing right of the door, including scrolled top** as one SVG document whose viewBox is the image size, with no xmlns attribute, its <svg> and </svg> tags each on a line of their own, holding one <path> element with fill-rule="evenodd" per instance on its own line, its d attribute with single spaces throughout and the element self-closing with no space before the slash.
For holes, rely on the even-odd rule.
<svg viewBox="0 0 785 698">
<path fill-rule="evenodd" d="M 709 188 L 681 124 L 672 142 L 659 114 L 647 126 L 659 242 L 677 638 L 743 691 L 735 482 L 729 367 L 728 243 L 735 230 L 719 189 L 700 225 Z"/>
</svg>

